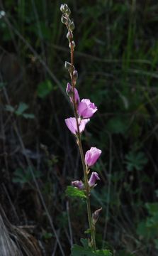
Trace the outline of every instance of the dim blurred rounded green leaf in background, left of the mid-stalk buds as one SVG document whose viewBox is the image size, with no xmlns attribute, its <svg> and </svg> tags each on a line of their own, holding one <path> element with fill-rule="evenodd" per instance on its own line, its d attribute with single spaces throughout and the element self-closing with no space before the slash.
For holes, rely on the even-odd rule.
<svg viewBox="0 0 158 256">
<path fill-rule="evenodd" d="M 44 82 L 40 82 L 37 90 L 38 97 L 43 99 L 44 97 L 49 95 L 50 92 L 52 92 L 52 90 L 53 90 L 53 86 L 50 80 L 45 80 Z"/>
</svg>

